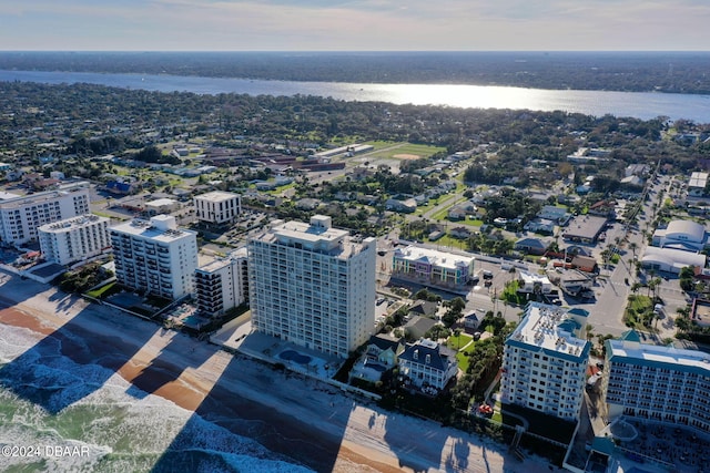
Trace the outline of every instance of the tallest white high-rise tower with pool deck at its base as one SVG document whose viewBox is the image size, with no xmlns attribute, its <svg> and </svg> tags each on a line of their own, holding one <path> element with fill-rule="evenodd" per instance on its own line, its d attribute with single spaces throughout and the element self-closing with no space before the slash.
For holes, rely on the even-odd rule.
<svg viewBox="0 0 710 473">
<path fill-rule="evenodd" d="M 346 358 L 367 341 L 375 319 L 376 240 L 283 220 L 248 244 L 252 326 L 298 346 Z"/>
</svg>

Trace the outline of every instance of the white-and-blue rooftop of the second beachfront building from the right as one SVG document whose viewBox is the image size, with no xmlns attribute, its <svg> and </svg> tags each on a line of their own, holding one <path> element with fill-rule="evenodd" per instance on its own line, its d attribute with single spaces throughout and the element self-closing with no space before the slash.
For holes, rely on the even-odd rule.
<svg viewBox="0 0 710 473">
<path fill-rule="evenodd" d="M 589 342 L 575 335 L 582 327 L 581 319 L 586 318 L 582 316 L 557 306 L 530 302 L 506 343 L 527 350 L 539 349 L 558 358 L 586 358 Z"/>
</svg>

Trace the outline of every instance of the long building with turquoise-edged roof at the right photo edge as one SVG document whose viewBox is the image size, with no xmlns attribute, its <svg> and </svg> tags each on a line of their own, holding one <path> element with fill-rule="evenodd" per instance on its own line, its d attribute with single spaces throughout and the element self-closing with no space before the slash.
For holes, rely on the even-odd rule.
<svg viewBox="0 0 710 473">
<path fill-rule="evenodd" d="M 607 340 L 601 392 L 609 421 L 631 415 L 710 432 L 710 356 L 641 343 L 636 331 Z"/>
</svg>

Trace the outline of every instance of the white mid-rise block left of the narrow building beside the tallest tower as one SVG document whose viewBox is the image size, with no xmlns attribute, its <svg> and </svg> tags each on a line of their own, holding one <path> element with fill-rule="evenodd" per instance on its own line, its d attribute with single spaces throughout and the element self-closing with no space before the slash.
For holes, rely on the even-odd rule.
<svg viewBox="0 0 710 473">
<path fill-rule="evenodd" d="M 192 294 L 196 232 L 179 229 L 170 215 L 133 219 L 110 232 L 115 277 L 121 285 L 168 299 Z"/>
</svg>

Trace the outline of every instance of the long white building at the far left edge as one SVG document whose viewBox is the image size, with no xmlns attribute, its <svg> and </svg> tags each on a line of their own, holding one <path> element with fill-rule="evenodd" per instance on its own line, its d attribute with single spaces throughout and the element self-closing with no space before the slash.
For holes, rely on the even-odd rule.
<svg viewBox="0 0 710 473">
<path fill-rule="evenodd" d="M 21 245 L 37 240 L 45 224 L 89 214 L 89 183 L 29 195 L 0 193 L 0 240 Z"/>
</svg>

